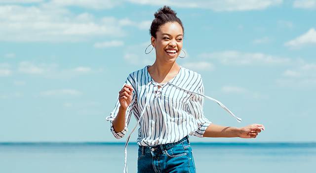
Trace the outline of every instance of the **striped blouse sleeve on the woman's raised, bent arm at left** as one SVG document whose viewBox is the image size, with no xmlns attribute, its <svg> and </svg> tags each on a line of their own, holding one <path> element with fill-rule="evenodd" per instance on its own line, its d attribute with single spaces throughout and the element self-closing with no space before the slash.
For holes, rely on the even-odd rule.
<svg viewBox="0 0 316 173">
<path fill-rule="evenodd" d="M 117 138 L 117 139 L 120 139 L 122 138 L 126 132 L 128 131 L 128 124 L 129 124 L 129 121 L 130 121 L 130 118 L 131 118 L 131 114 L 134 113 L 134 114 L 138 114 L 138 111 L 136 109 L 136 106 L 137 105 L 137 94 L 136 94 L 136 83 L 135 83 L 135 79 L 133 78 L 132 74 L 129 74 L 125 83 L 123 84 L 123 86 L 127 84 L 127 85 L 130 85 L 133 87 L 133 97 L 132 97 L 132 101 L 131 103 L 129 104 L 129 106 L 127 107 L 126 109 L 126 114 L 125 114 L 125 127 L 122 131 L 118 131 L 116 132 L 113 128 L 113 121 L 114 119 L 116 118 L 116 116 L 118 115 L 118 110 L 119 110 L 119 100 L 118 100 L 118 97 L 117 97 L 117 102 L 115 104 L 115 107 L 113 109 L 113 111 L 110 113 L 110 116 L 106 117 L 106 120 L 107 121 L 110 121 L 111 125 L 110 125 L 110 130 L 111 132 L 113 133 L 113 135 Z M 122 86 L 122 87 L 123 87 Z M 119 94 L 118 94 L 119 96 Z"/>
</svg>

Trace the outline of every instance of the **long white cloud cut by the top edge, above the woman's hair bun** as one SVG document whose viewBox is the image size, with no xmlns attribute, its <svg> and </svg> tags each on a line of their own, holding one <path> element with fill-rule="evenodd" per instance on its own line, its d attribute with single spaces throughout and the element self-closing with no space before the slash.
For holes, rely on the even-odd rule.
<svg viewBox="0 0 316 173">
<path fill-rule="evenodd" d="M 282 3 L 282 0 L 128 0 L 138 4 L 169 5 L 184 8 L 206 8 L 214 11 L 261 10 Z"/>
</svg>

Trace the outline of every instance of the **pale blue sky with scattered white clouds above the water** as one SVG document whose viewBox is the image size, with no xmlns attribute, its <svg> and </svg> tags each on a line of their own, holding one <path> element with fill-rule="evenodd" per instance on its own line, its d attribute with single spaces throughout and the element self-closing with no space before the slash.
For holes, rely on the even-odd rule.
<svg viewBox="0 0 316 173">
<path fill-rule="evenodd" d="M 316 0 L 0 0 L 0 142 L 124 142 L 105 117 L 127 75 L 154 63 L 144 51 L 164 4 L 185 28 L 177 63 L 242 122 L 210 100 L 205 116 L 266 128 L 192 141 L 316 141 Z"/>
</svg>

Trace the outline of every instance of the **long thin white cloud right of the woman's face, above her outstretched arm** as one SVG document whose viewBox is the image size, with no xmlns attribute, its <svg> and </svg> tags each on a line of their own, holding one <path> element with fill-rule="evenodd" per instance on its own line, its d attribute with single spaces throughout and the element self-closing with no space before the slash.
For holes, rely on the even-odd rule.
<svg viewBox="0 0 316 173">
<path fill-rule="evenodd" d="M 202 53 L 200 57 L 207 59 L 217 59 L 222 64 L 228 65 L 268 65 L 289 63 L 289 58 L 282 58 L 264 53 L 248 53 L 239 51 L 222 51 L 213 53 Z"/>
</svg>

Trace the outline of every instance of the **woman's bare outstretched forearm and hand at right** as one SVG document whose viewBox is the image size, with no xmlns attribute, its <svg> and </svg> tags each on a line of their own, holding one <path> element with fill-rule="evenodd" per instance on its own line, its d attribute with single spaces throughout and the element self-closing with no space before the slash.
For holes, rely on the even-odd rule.
<svg viewBox="0 0 316 173">
<path fill-rule="evenodd" d="M 261 130 L 265 130 L 263 125 L 252 124 L 242 128 L 225 127 L 215 124 L 210 124 L 203 137 L 241 137 L 255 138 Z"/>
</svg>

